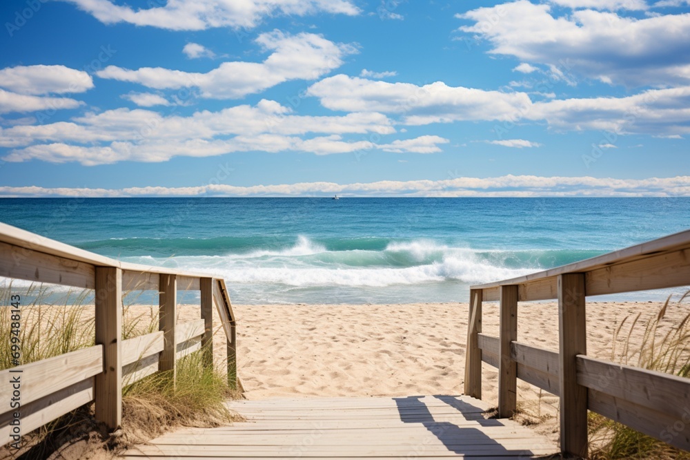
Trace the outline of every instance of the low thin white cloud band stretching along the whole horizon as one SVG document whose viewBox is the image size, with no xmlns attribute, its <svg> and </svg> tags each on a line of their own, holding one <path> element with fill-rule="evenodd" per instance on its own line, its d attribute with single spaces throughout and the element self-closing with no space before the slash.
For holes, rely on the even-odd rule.
<svg viewBox="0 0 690 460">
<path fill-rule="evenodd" d="M 393 196 L 690 196 L 690 176 L 675 178 L 613 179 L 591 177 L 539 177 L 504 175 L 497 178 L 455 178 L 337 184 L 301 182 L 297 184 L 234 186 L 209 184 L 188 187 L 145 186 L 126 189 L 48 189 L 39 186 L 0 186 L 2 196 L 299 196 L 330 195 Z"/>
</svg>

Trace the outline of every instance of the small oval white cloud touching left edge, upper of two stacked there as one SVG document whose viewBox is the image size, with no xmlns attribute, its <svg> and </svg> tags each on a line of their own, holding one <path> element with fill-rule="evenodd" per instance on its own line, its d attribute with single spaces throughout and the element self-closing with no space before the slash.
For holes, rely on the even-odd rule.
<svg viewBox="0 0 690 460">
<path fill-rule="evenodd" d="M 65 66 L 17 66 L 0 70 L 0 88 L 26 95 L 83 93 L 93 88 L 93 80 Z"/>
</svg>

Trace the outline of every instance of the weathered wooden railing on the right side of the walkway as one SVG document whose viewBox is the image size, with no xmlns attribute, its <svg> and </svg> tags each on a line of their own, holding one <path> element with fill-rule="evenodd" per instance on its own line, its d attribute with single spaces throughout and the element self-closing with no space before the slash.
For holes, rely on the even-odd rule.
<svg viewBox="0 0 690 460">
<path fill-rule="evenodd" d="M 690 231 L 539 273 L 472 286 L 464 392 L 482 398 L 482 361 L 498 368 L 498 411 L 517 378 L 560 396 L 561 450 L 586 457 L 587 410 L 690 450 L 690 380 L 586 356 L 585 296 L 690 285 Z M 517 303 L 558 298 L 558 352 L 517 342 Z M 482 334 L 482 302 L 500 302 L 500 336 Z"/>
</svg>

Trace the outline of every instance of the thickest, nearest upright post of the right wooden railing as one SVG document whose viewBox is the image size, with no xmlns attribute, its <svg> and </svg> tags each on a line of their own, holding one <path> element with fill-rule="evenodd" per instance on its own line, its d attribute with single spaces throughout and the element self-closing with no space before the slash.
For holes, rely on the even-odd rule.
<svg viewBox="0 0 690 460">
<path fill-rule="evenodd" d="M 558 276 L 561 450 L 587 456 L 587 389 L 578 385 L 576 356 L 587 354 L 584 274 Z"/>
</svg>

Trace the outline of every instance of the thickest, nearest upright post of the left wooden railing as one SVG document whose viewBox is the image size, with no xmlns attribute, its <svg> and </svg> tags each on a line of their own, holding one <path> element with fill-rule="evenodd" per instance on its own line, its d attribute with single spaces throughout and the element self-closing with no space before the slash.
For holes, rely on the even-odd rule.
<svg viewBox="0 0 690 460">
<path fill-rule="evenodd" d="M 122 271 L 96 267 L 96 345 L 103 345 L 103 372 L 96 375 L 95 417 L 110 430 L 122 421 Z"/>
</svg>

